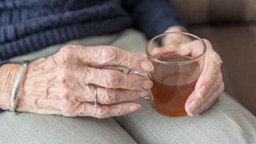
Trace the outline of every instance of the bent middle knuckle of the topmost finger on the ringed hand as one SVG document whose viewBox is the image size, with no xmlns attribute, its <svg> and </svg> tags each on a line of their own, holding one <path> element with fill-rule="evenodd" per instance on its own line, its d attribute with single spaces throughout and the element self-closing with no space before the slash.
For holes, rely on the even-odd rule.
<svg viewBox="0 0 256 144">
<path fill-rule="evenodd" d="M 103 59 L 103 63 L 109 63 L 117 58 L 118 48 L 114 46 L 101 46 L 100 56 Z"/>
</svg>

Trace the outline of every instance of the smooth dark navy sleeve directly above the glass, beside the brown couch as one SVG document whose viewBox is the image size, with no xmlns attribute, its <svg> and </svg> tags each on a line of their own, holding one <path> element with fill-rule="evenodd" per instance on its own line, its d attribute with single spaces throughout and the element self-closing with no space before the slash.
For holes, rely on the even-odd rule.
<svg viewBox="0 0 256 144">
<path fill-rule="evenodd" d="M 184 26 L 168 0 L 124 0 L 135 26 L 150 39 L 174 25 Z"/>
</svg>

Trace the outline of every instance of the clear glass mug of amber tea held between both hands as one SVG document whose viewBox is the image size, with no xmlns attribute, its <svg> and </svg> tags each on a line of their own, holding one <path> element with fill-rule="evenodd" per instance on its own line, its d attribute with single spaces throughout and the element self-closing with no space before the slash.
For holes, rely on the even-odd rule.
<svg viewBox="0 0 256 144">
<path fill-rule="evenodd" d="M 204 41 L 186 32 L 168 32 L 152 38 L 146 56 L 154 70 L 151 101 L 154 109 L 167 116 L 185 116 L 185 103 L 194 91 L 206 53 Z"/>
</svg>

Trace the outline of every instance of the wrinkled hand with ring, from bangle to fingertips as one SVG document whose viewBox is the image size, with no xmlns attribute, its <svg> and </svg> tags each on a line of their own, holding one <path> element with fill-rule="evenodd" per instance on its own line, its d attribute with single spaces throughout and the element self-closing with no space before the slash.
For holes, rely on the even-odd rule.
<svg viewBox="0 0 256 144">
<path fill-rule="evenodd" d="M 153 68 L 148 59 L 113 46 L 67 45 L 28 65 L 17 111 L 107 118 L 138 110 L 139 104 L 118 102 L 148 96 L 152 82 L 138 74 L 104 69 L 106 66 L 138 72 Z M 99 86 L 98 108 L 94 108 L 94 85 Z"/>
</svg>

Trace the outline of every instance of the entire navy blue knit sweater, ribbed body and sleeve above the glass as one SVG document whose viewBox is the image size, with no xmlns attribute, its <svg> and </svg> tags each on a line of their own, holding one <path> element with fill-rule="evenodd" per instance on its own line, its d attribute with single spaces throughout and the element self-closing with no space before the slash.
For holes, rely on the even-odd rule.
<svg viewBox="0 0 256 144">
<path fill-rule="evenodd" d="M 172 25 L 182 24 L 168 0 L 1 0 L 0 61 L 132 26 L 152 38 Z"/>
</svg>

